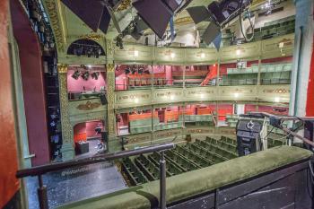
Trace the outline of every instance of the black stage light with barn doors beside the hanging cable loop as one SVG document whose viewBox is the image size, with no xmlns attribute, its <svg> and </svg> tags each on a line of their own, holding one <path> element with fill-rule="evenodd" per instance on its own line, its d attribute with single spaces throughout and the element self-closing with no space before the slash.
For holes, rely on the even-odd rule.
<svg viewBox="0 0 314 209">
<path fill-rule="evenodd" d="M 189 7 L 187 11 L 196 24 L 199 22 L 210 22 L 202 35 L 203 40 L 208 45 L 214 39 L 220 37 L 222 28 L 240 15 L 251 2 L 252 0 L 214 1 L 207 8 L 205 6 L 195 6 Z M 219 44 L 220 41 L 221 39 L 218 40 Z"/>
</svg>

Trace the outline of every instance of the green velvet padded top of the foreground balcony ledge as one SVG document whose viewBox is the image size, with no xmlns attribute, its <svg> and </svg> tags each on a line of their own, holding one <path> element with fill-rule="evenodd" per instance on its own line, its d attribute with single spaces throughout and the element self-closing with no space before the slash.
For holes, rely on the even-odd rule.
<svg viewBox="0 0 314 209">
<path fill-rule="evenodd" d="M 290 146 L 275 147 L 263 152 L 231 161 L 224 161 L 200 170 L 182 173 L 167 179 L 167 203 L 196 196 L 215 188 L 231 185 L 296 161 L 306 160 L 312 152 Z M 150 201 L 142 194 L 159 197 L 159 181 L 127 188 L 105 196 L 98 196 L 59 208 L 75 209 L 127 209 L 151 208 Z"/>
</svg>

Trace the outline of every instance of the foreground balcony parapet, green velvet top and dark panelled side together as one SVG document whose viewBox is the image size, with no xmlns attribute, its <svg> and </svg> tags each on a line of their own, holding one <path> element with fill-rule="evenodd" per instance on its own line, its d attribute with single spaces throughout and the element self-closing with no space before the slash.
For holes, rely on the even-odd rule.
<svg viewBox="0 0 314 209">
<path fill-rule="evenodd" d="M 206 208 L 225 209 L 308 208 L 312 204 L 306 184 L 311 156 L 308 150 L 280 146 L 170 176 L 166 181 L 168 208 L 202 208 L 204 203 Z M 172 163 L 168 158 L 167 163 Z M 155 180 L 59 208 L 157 208 L 159 193 L 160 182 Z M 265 201 L 257 201 L 261 199 Z"/>
</svg>

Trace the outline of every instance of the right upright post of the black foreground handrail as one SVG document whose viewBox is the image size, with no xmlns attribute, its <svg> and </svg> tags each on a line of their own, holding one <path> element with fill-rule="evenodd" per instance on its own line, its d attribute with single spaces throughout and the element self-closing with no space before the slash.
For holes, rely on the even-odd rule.
<svg viewBox="0 0 314 209">
<path fill-rule="evenodd" d="M 160 171 L 160 208 L 166 209 L 166 160 L 163 151 L 161 151 Z"/>
</svg>

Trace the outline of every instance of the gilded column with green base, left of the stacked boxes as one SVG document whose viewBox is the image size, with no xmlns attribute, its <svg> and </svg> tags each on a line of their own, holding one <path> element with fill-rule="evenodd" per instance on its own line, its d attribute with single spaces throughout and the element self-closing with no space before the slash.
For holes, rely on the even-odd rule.
<svg viewBox="0 0 314 209">
<path fill-rule="evenodd" d="M 68 161 L 74 159 L 74 134 L 73 126 L 70 123 L 68 114 L 69 101 L 67 98 L 66 74 L 67 65 L 57 65 L 59 80 L 59 97 L 60 97 L 60 115 L 62 129 L 62 160 Z"/>
</svg>

